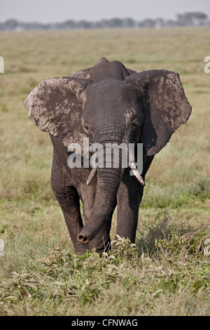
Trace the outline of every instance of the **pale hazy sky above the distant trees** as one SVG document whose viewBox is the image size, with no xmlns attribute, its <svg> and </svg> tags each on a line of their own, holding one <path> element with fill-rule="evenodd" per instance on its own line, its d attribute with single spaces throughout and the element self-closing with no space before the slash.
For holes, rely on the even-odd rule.
<svg viewBox="0 0 210 330">
<path fill-rule="evenodd" d="M 165 18 L 202 11 L 210 18 L 210 0 L 0 0 L 0 22 L 62 22 L 102 18 Z"/>
</svg>

